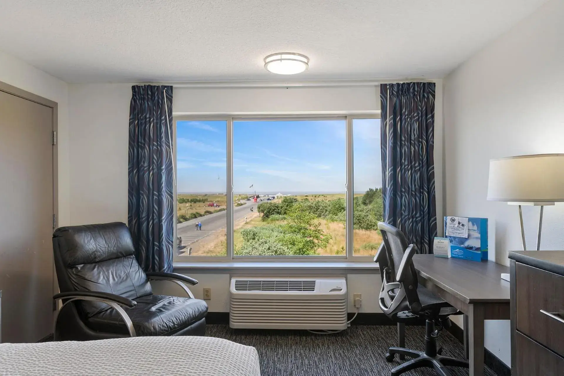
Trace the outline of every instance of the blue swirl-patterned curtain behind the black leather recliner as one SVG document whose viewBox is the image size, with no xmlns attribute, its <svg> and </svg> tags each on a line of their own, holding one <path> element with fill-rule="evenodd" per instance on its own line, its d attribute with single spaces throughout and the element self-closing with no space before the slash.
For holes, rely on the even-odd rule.
<svg viewBox="0 0 564 376">
<path fill-rule="evenodd" d="M 127 221 L 144 271 L 173 270 L 173 87 L 132 86 Z"/>
</svg>

